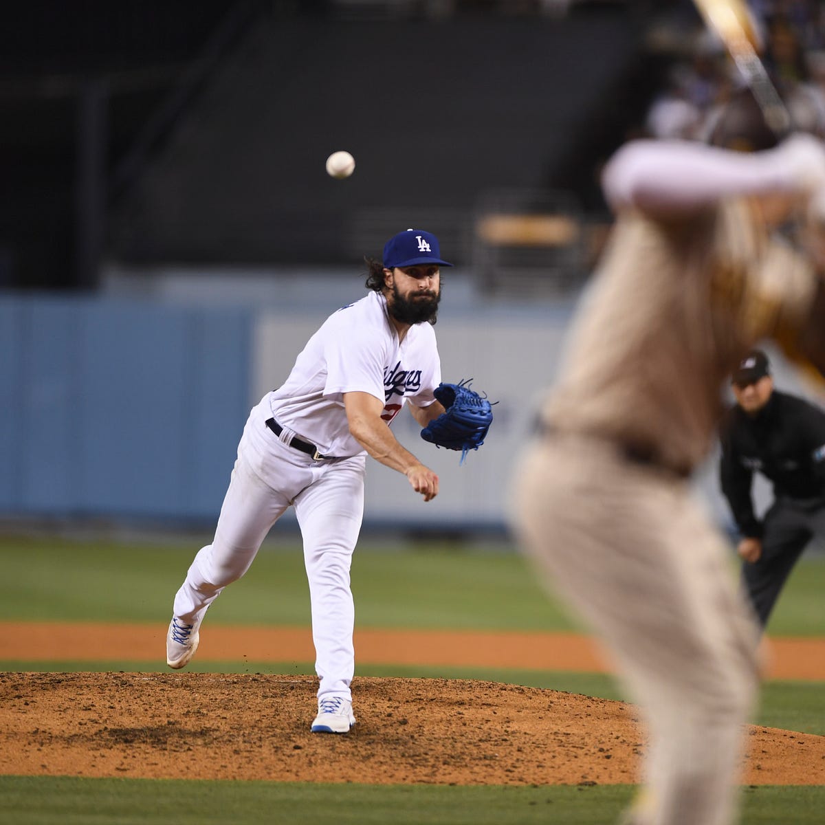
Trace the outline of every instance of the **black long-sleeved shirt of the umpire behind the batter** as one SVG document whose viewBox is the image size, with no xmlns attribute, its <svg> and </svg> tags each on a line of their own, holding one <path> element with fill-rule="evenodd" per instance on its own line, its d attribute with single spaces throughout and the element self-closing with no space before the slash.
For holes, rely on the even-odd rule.
<svg viewBox="0 0 825 825">
<path fill-rule="evenodd" d="M 719 477 L 733 519 L 743 536 L 761 538 L 753 512 L 754 472 L 773 483 L 775 498 L 825 505 L 825 412 L 795 395 L 774 390 L 756 416 L 738 404 L 725 415 L 720 430 Z"/>
</svg>

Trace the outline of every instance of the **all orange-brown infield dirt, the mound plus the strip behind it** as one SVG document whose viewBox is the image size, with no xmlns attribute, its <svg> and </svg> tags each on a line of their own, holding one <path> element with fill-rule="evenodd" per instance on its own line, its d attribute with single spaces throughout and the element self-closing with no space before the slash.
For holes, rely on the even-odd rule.
<svg viewBox="0 0 825 825">
<path fill-rule="evenodd" d="M 116 648 L 112 633 L 119 634 Z M 198 656 L 266 661 L 268 648 L 284 661 L 290 633 L 291 653 L 311 660 L 309 631 L 283 628 L 256 636 L 213 627 Z M 0 658 L 26 658 L 9 647 L 25 639 L 32 661 L 91 661 L 112 649 L 134 661 L 157 661 L 164 635 L 165 628 L 139 626 L 0 625 Z M 362 662 L 380 660 L 382 651 L 387 662 L 389 651 L 396 664 L 403 653 L 455 666 L 483 666 L 492 658 L 498 667 L 547 667 L 546 660 L 560 670 L 607 669 L 583 637 L 518 639 L 375 630 L 356 634 L 356 647 Z M 818 678 L 810 663 L 821 667 L 821 643 L 774 644 L 774 669 Z M 639 779 L 646 743 L 633 705 L 474 680 L 356 676 L 352 688 L 358 722 L 334 736 L 309 732 L 314 676 L 0 673 L 0 773 L 443 785 Z M 747 784 L 825 785 L 825 737 L 756 726 L 748 734 Z"/>
</svg>

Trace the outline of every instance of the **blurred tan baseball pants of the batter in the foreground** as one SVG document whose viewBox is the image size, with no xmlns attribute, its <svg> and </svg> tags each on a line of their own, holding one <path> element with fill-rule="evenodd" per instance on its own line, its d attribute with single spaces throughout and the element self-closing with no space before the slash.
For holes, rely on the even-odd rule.
<svg viewBox="0 0 825 825">
<path fill-rule="evenodd" d="M 530 557 L 604 643 L 643 714 L 645 807 L 634 822 L 732 823 L 759 634 L 690 483 L 609 442 L 557 434 L 521 458 L 513 488 Z"/>
</svg>

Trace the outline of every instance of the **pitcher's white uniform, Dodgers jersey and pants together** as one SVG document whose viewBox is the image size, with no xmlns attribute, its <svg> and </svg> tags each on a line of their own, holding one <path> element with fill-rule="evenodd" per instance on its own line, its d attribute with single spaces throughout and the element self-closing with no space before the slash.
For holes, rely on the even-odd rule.
<svg viewBox="0 0 825 825">
<path fill-rule="evenodd" d="M 210 604 L 246 573 L 266 534 L 293 507 L 304 544 L 318 696 L 351 700 L 350 564 L 364 511 L 366 453 L 350 435 L 343 394 L 380 398 L 389 425 L 407 401 L 431 404 L 439 383 L 431 324 L 413 324 L 399 342 L 377 292 L 333 313 L 285 383 L 249 413 L 214 539 L 200 549 L 175 596 L 177 618 L 199 628 Z M 266 425 L 271 417 L 281 425 L 277 436 Z M 315 460 L 291 446 L 294 436 L 332 459 Z"/>
</svg>

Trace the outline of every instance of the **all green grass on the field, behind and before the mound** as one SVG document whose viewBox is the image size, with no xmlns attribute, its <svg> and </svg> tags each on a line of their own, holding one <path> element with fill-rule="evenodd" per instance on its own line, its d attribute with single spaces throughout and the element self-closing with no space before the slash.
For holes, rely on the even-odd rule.
<svg viewBox="0 0 825 825">
<path fill-rule="evenodd" d="M 0 539 L 0 620 L 167 620 L 172 596 L 199 547 L 99 540 Z M 577 621 L 540 588 L 520 555 L 427 542 L 404 547 L 364 541 L 352 571 L 360 627 L 576 630 Z M 825 635 L 825 559 L 804 558 L 769 631 Z M 224 625 L 308 625 L 309 593 L 294 539 L 266 544 L 252 569 L 210 610 Z M 137 671 L 134 662 L 0 662 L 3 670 Z M 193 671 L 312 673 L 311 662 L 193 662 Z M 359 667 L 359 676 L 452 677 L 502 681 L 625 698 L 610 676 L 503 668 Z M 357 676 L 356 676 L 357 680 Z M 825 734 L 822 683 L 769 682 L 758 724 Z M 473 823 L 604 825 L 633 789 L 304 785 L 267 782 L 0 776 L 0 825 L 160 825 L 160 823 Z M 822 822 L 823 787 L 744 791 L 742 825 Z"/>
</svg>

